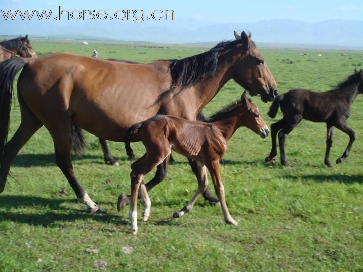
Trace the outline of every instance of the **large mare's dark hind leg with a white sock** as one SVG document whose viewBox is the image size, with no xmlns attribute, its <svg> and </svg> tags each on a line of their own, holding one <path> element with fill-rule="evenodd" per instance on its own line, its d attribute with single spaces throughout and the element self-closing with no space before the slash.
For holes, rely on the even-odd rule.
<svg viewBox="0 0 363 272">
<path fill-rule="evenodd" d="M 70 159 L 71 146 L 69 141 L 71 119 L 66 119 L 62 123 L 60 121 L 52 122 L 52 124 L 55 124 L 55 126 L 46 125 L 46 127 L 53 138 L 57 166 L 67 178 L 79 201 L 83 202 L 87 206 L 87 211 L 92 213 L 101 213 L 102 210 L 91 200 L 79 184 L 73 171 L 73 165 Z"/>
</svg>

